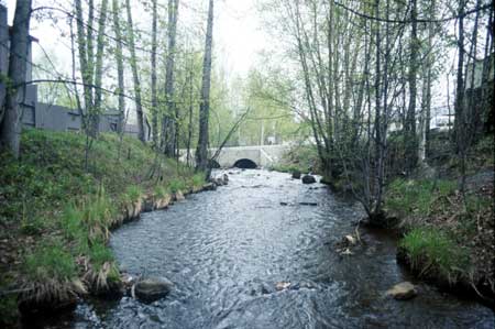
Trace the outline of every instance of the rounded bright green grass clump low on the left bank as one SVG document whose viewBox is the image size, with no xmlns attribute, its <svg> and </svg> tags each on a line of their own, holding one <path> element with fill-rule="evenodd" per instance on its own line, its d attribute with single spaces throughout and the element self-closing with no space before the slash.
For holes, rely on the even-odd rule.
<svg viewBox="0 0 495 329">
<path fill-rule="evenodd" d="M 42 243 L 25 256 L 24 274 L 34 282 L 72 279 L 77 275 L 73 255 L 61 241 Z"/>
</svg>

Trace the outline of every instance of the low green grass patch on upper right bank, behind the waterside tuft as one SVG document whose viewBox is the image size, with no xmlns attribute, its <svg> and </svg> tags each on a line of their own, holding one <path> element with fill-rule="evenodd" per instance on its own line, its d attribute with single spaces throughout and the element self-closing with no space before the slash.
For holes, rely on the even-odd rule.
<svg viewBox="0 0 495 329">
<path fill-rule="evenodd" d="M 455 191 L 454 180 L 395 179 L 388 186 L 385 209 L 399 217 L 428 216 L 441 197 Z"/>
</svg>

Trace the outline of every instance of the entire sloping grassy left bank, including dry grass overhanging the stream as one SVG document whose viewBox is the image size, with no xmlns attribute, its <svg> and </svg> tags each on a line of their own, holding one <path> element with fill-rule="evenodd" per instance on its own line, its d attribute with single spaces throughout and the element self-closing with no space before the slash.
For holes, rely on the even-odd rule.
<svg viewBox="0 0 495 329">
<path fill-rule="evenodd" d="M 199 189 L 202 175 L 135 139 L 103 134 L 86 166 L 84 135 L 26 130 L 0 160 L 0 323 L 36 300 L 106 294 L 120 284 L 109 230 L 145 199 Z M 132 212 L 132 213 L 131 213 Z M 134 213 L 136 212 L 136 213 Z"/>
</svg>

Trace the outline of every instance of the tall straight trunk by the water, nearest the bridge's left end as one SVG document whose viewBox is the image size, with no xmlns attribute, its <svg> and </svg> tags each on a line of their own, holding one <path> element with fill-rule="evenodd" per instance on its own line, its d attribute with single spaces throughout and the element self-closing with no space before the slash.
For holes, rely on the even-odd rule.
<svg viewBox="0 0 495 329">
<path fill-rule="evenodd" d="M 196 151 L 196 169 L 208 168 L 208 121 L 210 114 L 211 52 L 213 42 L 213 0 L 209 2 L 205 58 L 202 63 L 201 102 L 199 106 L 199 140 Z"/>
</svg>

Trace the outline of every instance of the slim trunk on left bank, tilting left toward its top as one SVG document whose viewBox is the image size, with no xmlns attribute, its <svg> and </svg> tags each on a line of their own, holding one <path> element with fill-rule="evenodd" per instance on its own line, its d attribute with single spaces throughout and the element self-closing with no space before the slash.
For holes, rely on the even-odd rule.
<svg viewBox="0 0 495 329">
<path fill-rule="evenodd" d="M 145 143 L 144 136 L 144 113 L 143 113 L 143 105 L 141 101 L 141 83 L 140 76 L 138 73 L 138 58 L 135 55 L 135 42 L 134 42 L 134 28 L 132 23 L 132 9 L 130 0 L 125 0 L 125 7 L 128 11 L 128 35 L 129 35 L 129 51 L 131 53 L 131 69 L 132 69 L 132 78 L 134 83 L 134 98 L 135 98 L 135 113 L 138 119 L 138 139 Z"/>
</svg>

